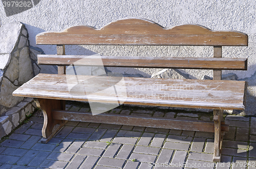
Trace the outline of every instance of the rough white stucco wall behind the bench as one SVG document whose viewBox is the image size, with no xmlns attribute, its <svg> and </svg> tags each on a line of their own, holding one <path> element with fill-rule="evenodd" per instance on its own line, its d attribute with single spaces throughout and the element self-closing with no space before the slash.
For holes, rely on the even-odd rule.
<svg viewBox="0 0 256 169">
<path fill-rule="evenodd" d="M 56 46 L 36 45 L 35 36 L 45 31 L 62 31 L 73 25 L 91 25 L 100 28 L 109 22 L 125 17 L 139 17 L 152 20 L 164 27 L 173 27 L 179 24 L 195 23 L 208 27 L 211 30 L 232 30 L 246 33 L 249 36 L 248 47 L 223 47 L 223 57 L 248 58 L 248 71 L 224 71 L 224 74 L 233 72 L 239 79 L 249 81 L 248 115 L 254 115 L 256 107 L 255 92 L 256 80 L 256 2 L 251 1 L 52 1 L 41 0 L 35 7 L 7 17 L 3 4 L 0 3 L 0 20 L 2 24 L 11 21 L 20 21 L 26 25 L 29 32 L 30 45 L 40 47 L 47 54 L 55 54 Z M 89 50 L 86 50 L 89 49 Z M 148 46 L 67 46 L 66 54 L 100 54 L 111 55 L 157 55 L 169 57 L 212 57 L 212 47 L 163 47 L 155 46 L 148 50 Z M 114 49 L 114 50 L 113 50 Z M 125 49 L 125 50 L 124 50 Z M 121 73 L 150 76 L 159 70 L 120 69 Z M 212 71 L 188 71 L 197 78 L 204 75 L 212 76 Z M 249 97 L 250 97 L 249 96 Z M 252 105 L 254 104 L 254 105 Z M 248 105 L 248 102 L 247 102 Z"/>
</svg>

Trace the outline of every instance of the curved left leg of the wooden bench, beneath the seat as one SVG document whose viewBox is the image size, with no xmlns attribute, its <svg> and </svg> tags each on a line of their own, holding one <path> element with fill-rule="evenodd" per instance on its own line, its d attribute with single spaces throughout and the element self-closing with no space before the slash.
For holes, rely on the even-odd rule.
<svg viewBox="0 0 256 169">
<path fill-rule="evenodd" d="M 54 134 L 62 128 L 68 121 L 66 120 L 54 120 L 52 117 L 53 109 L 64 110 L 62 100 L 53 99 L 35 99 L 36 105 L 42 110 L 44 114 L 44 126 L 42 127 L 41 143 L 47 143 L 54 136 Z"/>
</svg>

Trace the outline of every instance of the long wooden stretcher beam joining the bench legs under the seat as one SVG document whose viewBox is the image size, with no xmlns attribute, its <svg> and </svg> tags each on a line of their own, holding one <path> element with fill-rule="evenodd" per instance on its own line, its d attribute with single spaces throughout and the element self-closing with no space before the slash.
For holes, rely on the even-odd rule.
<svg viewBox="0 0 256 169">
<path fill-rule="evenodd" d="M 142 127 L 193 130 L 204 132 L 215 132 L 214 122 L 199 120 L 179 120 L 173 118 L 138 117 L 131 115 L 99 114 L 93 116 L 91 112 L 74 112 L 67 110 L 53 110 L 53 119 L 70 120 L 77 122 L 119 124 Z M 223 131 L 228 131 L 228 125 L 221 125 Z"/>
</svg>

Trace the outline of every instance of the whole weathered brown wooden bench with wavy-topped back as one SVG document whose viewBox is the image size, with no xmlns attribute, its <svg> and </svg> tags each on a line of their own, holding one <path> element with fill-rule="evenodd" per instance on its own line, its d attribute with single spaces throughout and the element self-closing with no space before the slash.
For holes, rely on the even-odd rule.
<svg viewBox="0 0 256 169">
<path fill-rule="evenodd" d="M 37 106 L 44 112 L 42 128 L 44 143 L 47 143 L 69 120 L 205 131 L 215 133 L 213 160 L 220 161 L 223 134 L 228 131 L 228 125 L 223 120 L 223 109 L 244 109 L 247 88 L 245 81 L 221 80 L 222 70 L 247 70 L 247 59 L 222 58 L 222 46 L 247 46 L 247 43 L 247 35 L 240 32 L 211 31 L 195 24 L 165 29 L 155 22 L 136 18 L 118 20 L 100 30 L 91 26 L 73 26 L 62 32 L 44 32 L 36 36 L 36 44 L 57 45 L 57 55 L 38 55 L 38 64 L 57 65 L 58 74 L 38 74 L 14 91 L 13 96 L 37 98 L 35 99 Z M 115 95 L 108 93 L 103 96 L 94 93 L 90 98 L 86 95 L 70 94 L 66 76 L 75 81 L 78 75 L 66 75 L 66 66 L 77 61 L 81 61 L 79 65 L 100 65 L 94 57 L 65 55 L 65 45 L 214 46 L 214 58 L 101 56 L 102 63 L 106 67 L 214 70 L 214 80 L 124 77 L 127 95 L 119 97 L 119 101 L 124 104 L 214 109 L 214 122 L 116 114 L 92 116 L 88 112 L 65 110 L 65 100 L 88 101 L 90 99 L 93 102 L 112 103 L 116 98 Z M 82 61 L 84 57 L 87 57 L 86 61 Z M 94 76 L 94 78 L 86 75 L 79 76 L 80 82 L 89 78 L 95 79 L 96 83 L 100 81 L 100 76 Z M 107 78 L 113 85 L 115 77 Z M 154 85 L 164 88 L 144 88 Z M 117 84 L 116 88 L 121 86 Z M 187 88 L 188 86 L 193 88 Z M 178 97 L 181 94 L 185 94 L 185 97 Z"/>
</svg>

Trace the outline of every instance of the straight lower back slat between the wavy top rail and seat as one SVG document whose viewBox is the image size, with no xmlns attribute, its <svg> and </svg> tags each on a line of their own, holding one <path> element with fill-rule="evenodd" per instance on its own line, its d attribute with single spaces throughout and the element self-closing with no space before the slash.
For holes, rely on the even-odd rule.
<svg viewBox="0 0 256 169">
<path fill-rule="evenodd" d="M 99 58 L 101 59 L 99 61 Z M 102 61 L 102 62 L 101 62 Z M 76 66 L 247 70 L 246 58 L 106 57 L 38 54 L 38 64 Z"/>
</svg>

